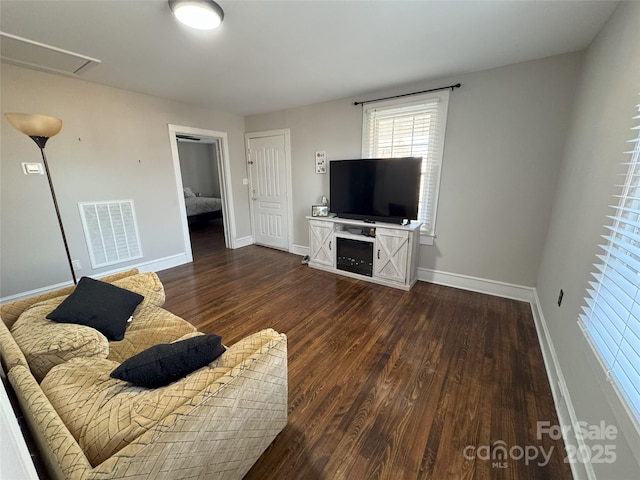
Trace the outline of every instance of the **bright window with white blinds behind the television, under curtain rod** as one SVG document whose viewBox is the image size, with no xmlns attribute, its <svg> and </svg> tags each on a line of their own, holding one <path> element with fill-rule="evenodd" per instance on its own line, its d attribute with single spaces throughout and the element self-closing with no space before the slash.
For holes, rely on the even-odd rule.
<svg viewBox="0 0 640 480">
<path fill-rule="evenodd" d="M 363 111 L 365 158 L 422 157 L 418 220 L 434 236 L 449 91 L 369 104 Z"/>
</svg>

